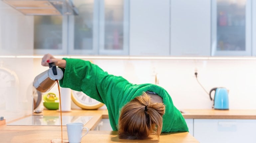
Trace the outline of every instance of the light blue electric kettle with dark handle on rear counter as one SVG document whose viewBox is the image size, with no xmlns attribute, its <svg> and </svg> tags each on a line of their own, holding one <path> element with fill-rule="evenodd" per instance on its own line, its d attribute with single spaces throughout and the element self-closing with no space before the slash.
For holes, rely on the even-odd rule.
<svg viewBox="0 0 256 143">
<path fill-rule="evenodd" d="M 213 88 L 210 90 L 210 99 L 211 98 L 211 92 L 215 91 L 214 94 L 214 100 L 213 100 L 213 106 L 212 108 L 216 110 L 228 110 L 228 91 L 226 88 Z"/>
</svg>

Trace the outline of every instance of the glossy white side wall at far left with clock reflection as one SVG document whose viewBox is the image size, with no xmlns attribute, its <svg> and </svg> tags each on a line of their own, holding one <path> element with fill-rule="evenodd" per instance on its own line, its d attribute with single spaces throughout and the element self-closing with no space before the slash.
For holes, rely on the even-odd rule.
<svg viewBox="0 0 256 143">
<path fill-rule="evenodd" d="M 1 56 L 33 55 L 33 30 L 33 17 L 0 1 Z M 0 116 L 7 122 L 32 113 L 32 66 L 33 58 L 0 58 Z"/>
</svg>

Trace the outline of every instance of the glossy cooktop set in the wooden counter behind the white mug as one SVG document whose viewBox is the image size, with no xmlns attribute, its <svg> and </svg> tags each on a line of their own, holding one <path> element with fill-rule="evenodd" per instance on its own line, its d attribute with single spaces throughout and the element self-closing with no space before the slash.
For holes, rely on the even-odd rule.
<svg viewBox="0 0 256 143">
<path fill-rule="evenodd" d="M 80 122 L 86 124 L 92 116 L 62 116 L 62 125 L 67 123 Z M 9 123 L 7 125 L 61 125 L 61 116 L 43 116 L 35 115 L 23 118 L 21 120 Z"/>
</svg>

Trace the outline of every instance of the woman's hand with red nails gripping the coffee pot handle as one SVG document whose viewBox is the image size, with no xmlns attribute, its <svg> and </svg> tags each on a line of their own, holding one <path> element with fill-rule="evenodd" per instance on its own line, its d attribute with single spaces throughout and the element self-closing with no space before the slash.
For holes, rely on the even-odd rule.
<svg viewBox="0 0 256 143">
<path fill-rule="evenodd" d="M 45 54 L 42 58 L 41 65 L 49 66 L 49 63 L 55 63 L 57 66 L 62 67 L 62 68 L 66 67 L 66 60 L 57 59 L 51 54 Z"/>
</svg>

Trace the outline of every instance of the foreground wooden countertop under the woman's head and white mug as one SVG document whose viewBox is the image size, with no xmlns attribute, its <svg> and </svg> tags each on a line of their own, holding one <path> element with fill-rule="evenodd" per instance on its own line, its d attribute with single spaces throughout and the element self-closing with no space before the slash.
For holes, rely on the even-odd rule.
<svg viewBox="0 0 256 143">
<path fill-rule="evenodd" d="M 81 143 L 199 143 L 188 132 L 164 133 L 158 140 L 154 135 L 144 140 L 119 139 L 117 131 L 89 131 Z M 61 139 L 60 130 L 0 130 L 1 143 L 51 143 L 52 139 Z M 66 130 L 63 139 L 67 138 Z"/>
</svg>

